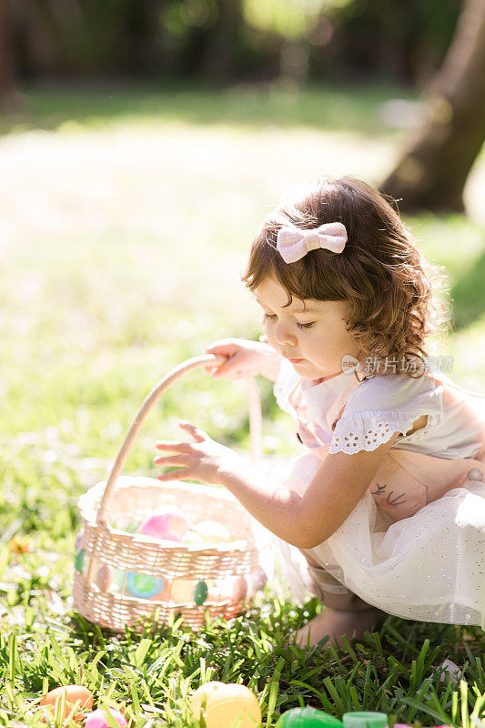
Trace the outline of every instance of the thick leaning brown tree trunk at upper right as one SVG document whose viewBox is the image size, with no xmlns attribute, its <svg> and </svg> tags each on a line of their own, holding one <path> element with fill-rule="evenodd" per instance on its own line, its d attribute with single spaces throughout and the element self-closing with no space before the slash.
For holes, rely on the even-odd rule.
<svg viewBox="0 0 485 728">
<path fill-rule="evenodd" d="M 463 187 L 485 140 L 485 2 L 464 0 L 430 84 L 428 116 L 381 185 L 402 209 L 463 211 Z"/>
</svg>

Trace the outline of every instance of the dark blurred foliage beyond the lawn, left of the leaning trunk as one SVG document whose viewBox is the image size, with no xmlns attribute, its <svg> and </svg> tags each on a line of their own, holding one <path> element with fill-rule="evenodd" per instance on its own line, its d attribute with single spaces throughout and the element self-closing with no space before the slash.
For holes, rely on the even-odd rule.
<svg viewBox="0 0 485 728">
<path fill-rule="evenodd" d="M 2 0 L 24 78 L 229 82 L 379 76 L 422 84 L 460 0 Z M 13 48 L 12 48 L 13 52 Z"/>
</svg>

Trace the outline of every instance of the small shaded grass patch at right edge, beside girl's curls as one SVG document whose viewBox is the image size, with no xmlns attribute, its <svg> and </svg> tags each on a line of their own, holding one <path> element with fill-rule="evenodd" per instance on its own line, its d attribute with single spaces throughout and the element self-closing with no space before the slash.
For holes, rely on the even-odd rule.
<svg viewBox="0 0 485 728">
<path fill-rule="evenodd" d="M 454 301 L 454 325 L 466 329 L 485 312 L 485 253 L 477 258 L 450 290 Z"/>
</svg>

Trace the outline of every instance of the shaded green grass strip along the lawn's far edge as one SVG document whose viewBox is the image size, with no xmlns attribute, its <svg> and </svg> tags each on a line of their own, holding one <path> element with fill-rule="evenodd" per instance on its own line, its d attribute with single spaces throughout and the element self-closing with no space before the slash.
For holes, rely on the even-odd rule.
<svg viewBox="0 0 485 728">
<path fill-rule="evenodd" d="M 106 126 L 116 122 L 227 125 L 261 129 L 295 126 L 353 130 L 370 136 L 389 133 L 382 105 L 390 99 L 414 99 L 397 86 L 312 85 L 298 89 L 280 82 L 239 84 L 225 89 L 173 79 L 146 79 L 86 85 L 25 86 L 24 109 L 0 116 L 0 133 L 34 128 L 56 130 L 66 122 Z"/>
</svg>

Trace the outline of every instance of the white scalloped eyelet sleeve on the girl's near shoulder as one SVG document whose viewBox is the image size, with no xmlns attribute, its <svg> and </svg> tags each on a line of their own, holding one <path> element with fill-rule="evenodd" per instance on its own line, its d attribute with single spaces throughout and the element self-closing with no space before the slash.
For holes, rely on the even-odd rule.
<svg viewBox="0 0 485 728">
<path fill-rule="evenodd" d="M 376 450 L 394 432 L 405 437 L 416 420 L 428 415 L 425 427 L 406 438 L 409 442 L 420 440 L 441 420 L 440 395 L 441 388 L 425 377 L 389 374 L 363 382 L 350 395 L 328 452 Z"/>
</svg>

